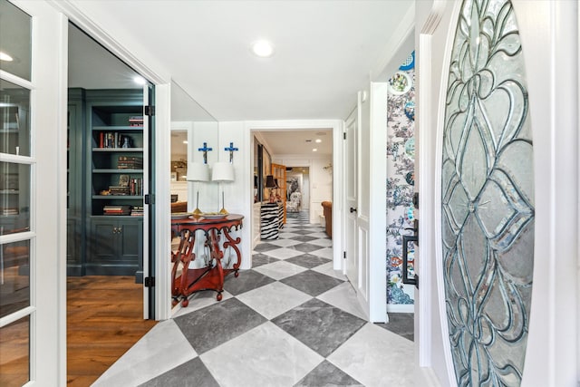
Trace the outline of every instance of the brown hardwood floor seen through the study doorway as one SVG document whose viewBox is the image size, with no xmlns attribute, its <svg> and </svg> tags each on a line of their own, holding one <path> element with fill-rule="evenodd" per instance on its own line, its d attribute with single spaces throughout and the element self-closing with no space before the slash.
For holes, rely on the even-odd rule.
<svg viewBox="0 0 580 387">
<path fill-rule="evenodd" d="M 90 386 L 156 324 L 142 292 L 133 276 L 68 278 L 67 386 Z"/>
</svg>

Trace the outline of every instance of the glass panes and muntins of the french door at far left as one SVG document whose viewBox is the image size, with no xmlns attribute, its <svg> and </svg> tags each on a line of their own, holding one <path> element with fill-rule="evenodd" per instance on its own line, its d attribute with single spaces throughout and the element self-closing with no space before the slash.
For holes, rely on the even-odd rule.
<svg viewBox="0 0 580 387">
<path fill-rule="evenodd" d="M 31 380 L 31 17 L 0 0 L 0 385 Z"/>
</svg>

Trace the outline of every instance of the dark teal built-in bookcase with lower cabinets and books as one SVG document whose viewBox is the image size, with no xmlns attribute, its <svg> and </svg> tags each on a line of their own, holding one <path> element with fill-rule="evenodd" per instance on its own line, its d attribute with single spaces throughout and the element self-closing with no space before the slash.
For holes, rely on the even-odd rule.
<svg viewBox="0 0 580 387">
<path fill-rule="evenodd" d="M 142 282 L 146 165 L 141 90 L 85 90 L 81 276 Z M 71 169 L 73 167 L 71 166 Z M 75 274 L 77 275 L 77 274 Z"/>
</svg>

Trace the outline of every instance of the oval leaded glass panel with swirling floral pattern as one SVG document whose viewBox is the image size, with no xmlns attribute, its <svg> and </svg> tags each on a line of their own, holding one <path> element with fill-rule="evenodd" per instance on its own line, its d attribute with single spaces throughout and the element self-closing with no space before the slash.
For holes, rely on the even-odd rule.
<svg viewBox="0 0 580 387">
<path fill-rule="evenodd" d="M 458 385 L 519 385 L 534 264 L 532 131 L 509 0 L 464 0 L 441 171 L 443 276 Z"/>
</svg>

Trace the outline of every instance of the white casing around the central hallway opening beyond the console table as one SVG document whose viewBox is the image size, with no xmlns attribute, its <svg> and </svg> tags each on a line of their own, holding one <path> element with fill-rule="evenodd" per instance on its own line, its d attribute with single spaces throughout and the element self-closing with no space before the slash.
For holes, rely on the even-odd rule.
<svg viewBox="0 0 580 387">
<path fill-rule="evenodd" d="M 333 131 L 333 165 L 343 165 L 343 121 L 340 120 L 244 121 L 244 130 L 246 132 L 244 146 L 251 146 L 251 139 L 255 131 L 300 131 L 313 129 L 331 129 Z M 247 154 L 249 155 L 249 152 Z M 245 162 L 247 162 L 247 165 L 250 165 L 250 162 L 253 162 L 253 160 L 245 160 Z M 341 192 L 343 188 L 343 175 L 339 172 L 339 170 L 333 169 L 333 236 L 343 235 L 343 224 L 341 222 L 341 217 L 343 216 L 343 196 Z M 250 200 L 245 200 L 244 202 L 247 203 L 245 204 L 247 206 L 245 212 L 251 214 L 251 205 L 253 203 Z M 249 219 L 250 230 L 253 227 L 251 218 Z M 251 247 L 251 243 L 247 244 L 247 247 Z M 333 237 L 334 269 L 343 270 L 343 248 L 343 238 Z M 251 250 L 243 251 L 242 256 L 252 256 Z"/>
</svg>

